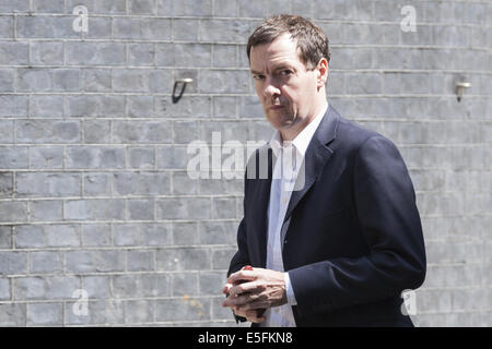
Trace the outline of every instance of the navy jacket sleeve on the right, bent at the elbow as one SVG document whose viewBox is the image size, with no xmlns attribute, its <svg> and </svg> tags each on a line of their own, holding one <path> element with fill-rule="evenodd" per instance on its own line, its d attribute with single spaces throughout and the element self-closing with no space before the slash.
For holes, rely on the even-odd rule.
<svg viewBox="0 0 492 349">
<path fill-rule="evenodd" d="M 290 270 L 301 316 L 399 296 L 424 280 L 425 249 L 415 193 L 389 140 L 376 135 L 362 144 L 352 185 L 370 252 Z"/>
</svg>

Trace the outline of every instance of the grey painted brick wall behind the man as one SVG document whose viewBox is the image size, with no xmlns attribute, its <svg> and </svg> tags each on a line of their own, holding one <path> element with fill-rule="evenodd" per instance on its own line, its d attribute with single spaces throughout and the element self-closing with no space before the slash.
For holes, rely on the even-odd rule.
<svg viewBox="0 0 492 349">
<path fill-rule="evenodd" d="M 0 326 L 235 326 L 220 301 L 243 182 L 190 179 L 186 149 L 270 137 L 245 44 L 278 9 L 326 31 L 329 101 L 407 161 L 429 257 L 415 324 L 492 325 L 491 1 L 0 0 Z"/>
</svg>

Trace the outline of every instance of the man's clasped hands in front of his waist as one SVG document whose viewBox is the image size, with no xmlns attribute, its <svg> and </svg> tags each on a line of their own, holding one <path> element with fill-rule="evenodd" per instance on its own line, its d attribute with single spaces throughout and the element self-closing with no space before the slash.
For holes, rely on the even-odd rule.
<svg viewBox="0 0 492 349">
<path fill-rule="evenodd" d="M 265 310 L 288 302 L 282 272 L 263 268 L 241 269 L 229 276 L 222 292 L 229 297 L 222 306 L 253 323 L 265 321 Z"/>
</svg>

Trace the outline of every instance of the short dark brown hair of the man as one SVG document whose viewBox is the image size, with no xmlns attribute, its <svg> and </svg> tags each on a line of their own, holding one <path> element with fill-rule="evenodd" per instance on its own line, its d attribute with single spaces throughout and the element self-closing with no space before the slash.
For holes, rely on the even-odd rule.
<svg viewBox="0 0 492 349">
<path fill-rule="evenodd" d="M 300 16 L 279 14 L 266 19 L 248 38 L 246 51 L 250 61 L 251 47 L 270 44 L 282 34 L 290 33 L 296 40 L 300 59 L 308 70 L 318 65 L 321 58 L 330 61 L 328 37 L 316 24 Z"/>
</svg>

